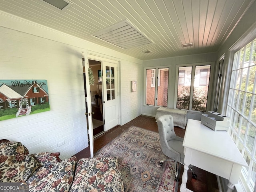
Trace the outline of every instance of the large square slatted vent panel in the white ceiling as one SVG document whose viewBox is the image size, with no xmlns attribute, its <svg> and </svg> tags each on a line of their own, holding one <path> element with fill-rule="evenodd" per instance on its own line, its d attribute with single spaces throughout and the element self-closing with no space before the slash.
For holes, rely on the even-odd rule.
<svg viewBox="0 0 256 192">
<path fill-rule="evenodd" d="M 138 47 L 152 43 L 142 32 L 136 29 L 128 20 L 124 20 L 92 34 L 101 40 L 123 49 Z"/>
</svg>

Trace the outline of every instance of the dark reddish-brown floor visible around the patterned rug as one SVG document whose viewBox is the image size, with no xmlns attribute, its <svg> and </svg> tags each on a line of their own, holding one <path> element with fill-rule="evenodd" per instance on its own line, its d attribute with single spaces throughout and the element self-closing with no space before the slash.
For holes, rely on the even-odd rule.
<svg viewBox="0 0 256 192">
<path fill-rule="evenodd" d="M 127 130 L 130 126 L 138 126 L 148 130 L 158 132 L 157 124 L 155 118 L 148 116 L 138 116 L 134 120 L 128 122 L 123 126 L 117 126 L 112 128 L 108 132 L 102 134 L 101 136 L 94 139 L 94 153 L 100 150 L 103 146 L 112 141 L 116 136 L 120 135 L 122 132 Z M 174 131 L 177 136 L 184 138 L 185 130 L 179 127 L 175 127 Z M 81 152 L 75 154 L 78 159 L 90 157 L 90 148 L 85 148 Z M 180 169 L 180 182 L 178 186 L 178 191 L 180 191 L 181 177 L 183 173 L 183 166 Z M 192 179 L 192 173 L 188 172 L 188 182 L 187 188 L 193 190 L 194 192 L 219 192 L 216 175 L 206 172 L 200 168 L 193 166 L 194 172 L 197 174 L 197 178 Z"/>
</svg>

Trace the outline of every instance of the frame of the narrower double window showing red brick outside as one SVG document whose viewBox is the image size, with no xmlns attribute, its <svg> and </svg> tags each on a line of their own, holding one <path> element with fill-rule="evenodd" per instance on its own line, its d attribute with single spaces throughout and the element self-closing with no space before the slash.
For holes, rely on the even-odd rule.
<svg viewBox="0 0 256 192">
<path fill-rule="evenodd" d="M 152 66 L 152 67 L 144 67 L 144 93 L 143 93 L 143 105 L 144 106 L 151 106 L 151 107 L 160 107 L 157 105 L 157 92 L 158 92 L 158 86 L 159 86 L 159 81 L 158 81 L 158 71 L 159 69 L 162 68 L 169 68 L 168 72 L 168 90 L 167 90 L 167 107 L 168 107 L 168 99 L 169 99 L 169 90 L 170 90 L 170 76 L 171 76 L 171 66 L 170 65 L 165 65 L 165 66 Z M 146 104 L 146 84 L 147 84 L 147 70 L 148 69 L 154 69 L 155 70 L 155 85 L 157 84 L 158 86 L 155 86 L 155 101 L 154 105 L 149 105 Z"/>
</svg>

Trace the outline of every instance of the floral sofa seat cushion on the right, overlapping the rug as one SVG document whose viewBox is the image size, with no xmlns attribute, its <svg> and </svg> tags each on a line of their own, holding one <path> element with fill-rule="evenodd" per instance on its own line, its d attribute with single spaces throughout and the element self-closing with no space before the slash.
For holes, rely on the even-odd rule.
<svg viewBox="0 0 256 192">
<path fill-rule="evenodd" d="M 82 158 L 76 165 L 70 192 L 123 192 L 116 158 Z"/>
</svg>

